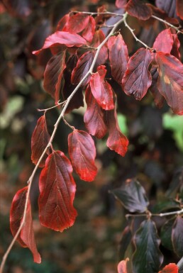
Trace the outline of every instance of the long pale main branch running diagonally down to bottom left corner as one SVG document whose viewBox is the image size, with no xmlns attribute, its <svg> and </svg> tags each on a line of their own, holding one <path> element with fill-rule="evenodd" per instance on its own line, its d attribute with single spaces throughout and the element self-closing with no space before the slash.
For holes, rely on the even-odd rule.
<svg viewBox="0 0 183 273">
<path fill-rule="evenodd" d="M 65 102 L 65 106 L 63 107 L 62 112 L 60 113 L 60 116 L 57 118 L 57 121 L 55 123 L 54 129 L 52 131 L 52 135 L 50 137 L 50 141 L 49 141 L 48 145 L 45 147 L 45 150 L 43 151 L 42 155 L 40 156 L 40 159 L 38 160 L 38 163 L 35 165 L 35 168 L 33 169 L 33 172 L 32 172 L 32 174 L 30 175 L 30 177 L 28 179 L 28 182 L 27 182 L 28 183 L 28 192 L 27 192 L 27 196 L 26 196 L 26 204 L 25 204 L 25 208 L 24 208 L 24 211 L 23 211 L 23 218 L 22 218 L 22 221 L 21 221 L 21 225 L 18 228 L 18 231 L 17 231 L 16 235 L 14 236 L 13 240 L 11 241 L 11 244 L 9 245 L 8 249 L 6 250 L 6 252 L 4 254 L 4 257 L 3 257 L 2 262 L 1 262 L 0 273 L 3 273 L 4 265 L 6 263 L 7 257 L 9 256 L 9 252 L 11 251 L 14 243 L 16 242 L 16 239 L 18 238 L 18 235 L 21 233 L 21 229 L 23 228 L 23 225 L 26 222 L 26 211 L 27 211 L 27 207 L 28 207 L 28 199 L 29 199 L 29 196 L 30 196 L 30 188 L 31 188 L 31 185 L 33 183 L 33 178 L 35 176 L 35 172 L 37 171 L 38 166 L 40 165 L 41 160 L 43 159 L 46 151 L 48 150 L 48 147 L 50 147 L 52 145 L 52 141 L 55 138 L 55 133 L 57 131 L 57 127 L 58 127 L 61 119 L 65 115 L 65 111 L 67 109 L 67 106 L 70 104 L 70 101 L 71 101 L 72 97 L 77 92 L 77 90 L 79 89 L 79 87 L 82 86 L 82 83 L 84 82 L 84 80 L 87 79 L 87 77 L 89 76 L 89 74 L 92 73 L 92 71 L 94 69 L 94 65 L 96 64 L 96 60 L 97 60 L 97 57 L 99 56 L 99 52 L 100 52 L 101 48 L 107 42 L 107 40 L 109 40 L 109 38 L 111 37 L 111 35 L 113 35 L 113 33 L 115 32 L 116 28 L 126 19 L 127 15 L 128 15 L 128 13 L 124 13 L 123 14 L 123 18 L 121 18 L 121 20 L 119 20 L 113 26 L 113 29 L 110 31 L 109 35 L 107 35 L 106 38 L 104 39 L 104 41 L 98 46 L 98 48 L 96 48 L 96 54 L 94 56 L 93 62 L 91 63 L 91 67 L 89 68 L 89 71 L 87 72 L 87 74 L 85 74 L 85 76 L 79 82 L 79 84 L 77 85 L 77 87 L 75 87 L 75 89 L 72 91 L 72 94 L 70 94 L 70 96 L 67 98 L 67 101 Z M 45 110 L 47 110 L 47 109 L 45 109 Z"/>
</svg>

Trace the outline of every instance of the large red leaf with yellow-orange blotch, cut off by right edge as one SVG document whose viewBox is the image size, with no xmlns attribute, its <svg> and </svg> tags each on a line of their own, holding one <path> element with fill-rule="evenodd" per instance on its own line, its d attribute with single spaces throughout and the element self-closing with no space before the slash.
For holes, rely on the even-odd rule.
<svg viewBox="0 0 183 273">
<path fill-rule="evenodd" d="M 165 97 L 167 104 L 174 113 L 183 114 L 183 65 L 174 56 L 157 52 L 156 62 L 158 65 L 159 77 L 157 88 Z"/>
</svg>

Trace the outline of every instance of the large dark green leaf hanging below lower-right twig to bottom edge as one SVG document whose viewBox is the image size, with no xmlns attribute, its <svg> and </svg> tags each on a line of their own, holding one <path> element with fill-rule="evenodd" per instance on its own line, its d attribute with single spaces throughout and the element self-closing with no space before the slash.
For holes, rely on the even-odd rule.
<svg viewBox="0 0 183 273">
<path fill-rule="evenodd" d="M 155 223 L 145 220 L 135 234 L 135 253 L 133 255 L 134 273 L 155 273 L 162 264 L 163 256 L 159 250 L 160 239 Z"/>
</svg>

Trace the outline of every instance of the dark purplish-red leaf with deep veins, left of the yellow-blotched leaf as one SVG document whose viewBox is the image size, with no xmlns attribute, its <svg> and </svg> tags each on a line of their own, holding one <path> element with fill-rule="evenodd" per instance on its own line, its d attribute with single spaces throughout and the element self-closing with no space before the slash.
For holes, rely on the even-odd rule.
<svg viewBox="0 0 183 273">
<path fill-rule="evenodd" d="M 140 48 L 130 58 L 126 73 L 122 80 L 123 90 L 127 95 L 135 96 L 135 99 L 143 99 L 151 85 L 151 74 L 148 70 L 153 57 L 150 50 Z"/>
</svg>

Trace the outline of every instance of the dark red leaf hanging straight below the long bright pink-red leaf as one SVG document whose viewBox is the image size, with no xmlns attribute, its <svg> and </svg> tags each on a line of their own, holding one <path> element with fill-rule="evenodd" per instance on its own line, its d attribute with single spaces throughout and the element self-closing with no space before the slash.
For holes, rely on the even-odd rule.
<svg viewBox="0 0 183 273">
<path fill-rule="evenodd" d="M 60 100 L 60 87 L 65 67 L 65 50 L 59 55 L 52 56 L 45 67 L 43 87 L 55 99 L 55 104 Z"/>
</svg>

